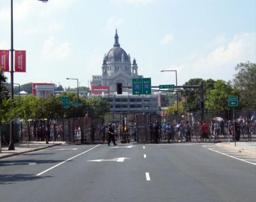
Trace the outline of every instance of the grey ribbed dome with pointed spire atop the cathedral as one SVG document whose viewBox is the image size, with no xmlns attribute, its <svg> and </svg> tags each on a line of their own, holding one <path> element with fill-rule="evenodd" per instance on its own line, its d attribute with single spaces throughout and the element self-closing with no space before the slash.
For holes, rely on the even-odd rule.
<svg viewBox="0 0 256 202">
<path fill-rule="evenodd" d="M 123 62 L 129 62 L 129 57 L 127 53 L 125 52 L 124 49 L 120 47 L 119 44 L 119 36 L 117 35 L 117 30 L 116 30 L 116 36 L 114 37 L 114 47 L 110 49 L 105 56 L 105 60 L 107 62 L 112 62 L 112 61 L 122 61 Z"/>
</svg>

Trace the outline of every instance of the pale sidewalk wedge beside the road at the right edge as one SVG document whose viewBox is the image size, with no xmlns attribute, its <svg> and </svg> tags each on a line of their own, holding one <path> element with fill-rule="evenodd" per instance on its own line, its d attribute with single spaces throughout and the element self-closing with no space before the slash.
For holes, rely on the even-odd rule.
<svg viewBox="0 0 256 202">
<path fill-rule="evenodd" d="M 217 143 L 217 145 L 224 148 L 236 150 L 239 153 L 247 153 L 248 155 L 256 156 L 256 142 L 231 142 L 231 143 Z"/>
</svg>

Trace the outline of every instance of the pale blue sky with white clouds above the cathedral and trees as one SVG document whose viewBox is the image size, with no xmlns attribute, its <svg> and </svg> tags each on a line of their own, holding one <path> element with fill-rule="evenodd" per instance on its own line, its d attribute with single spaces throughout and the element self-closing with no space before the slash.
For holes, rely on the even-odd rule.
<svg viewBox="0 0 256 202">
<path fill-rule="evenodd" d="M 104 54 L 120 46 L 152 85 L 191 78 L 233 79 L 239 62 L 256 62 L 255 0 L 14 1 L 14 49 L 27 51 L 27 72 L 14 83 L 88 86 Z M 10 1 L 0 0 L 0 49 L 10 49 Z M 9 78 L 10 74 L 5 73 Z"/>
</svg>

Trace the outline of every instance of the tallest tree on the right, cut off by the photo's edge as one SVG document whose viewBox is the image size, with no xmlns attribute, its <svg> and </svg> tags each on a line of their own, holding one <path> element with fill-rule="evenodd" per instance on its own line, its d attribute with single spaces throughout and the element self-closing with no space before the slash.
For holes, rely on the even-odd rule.
<svg viewBox="0 0 256 202">
<path fill-rule="evenodd" d="M 239 63 L 233 79 L 234 88 L 239 91 L 239 106 L 246 109 L 256 108 L 256 64 L 251 62 Z"/>
</svg>

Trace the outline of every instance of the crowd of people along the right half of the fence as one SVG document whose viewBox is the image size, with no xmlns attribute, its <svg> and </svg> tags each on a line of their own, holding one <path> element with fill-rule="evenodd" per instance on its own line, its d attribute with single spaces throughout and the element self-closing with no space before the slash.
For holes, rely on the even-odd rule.
<svg viewBox="0 0 256 202">
<path fill-rule="evenodd" d="M 164 120 L 162 125 L 159 124 L 159 121 L 155 121 L 154 124 L 151 123 L 149 130 L 152 136 L 152 143 L 159 143 L 163 139 L 167 140 L 168 143 L 175 140 L 178 140 L 178 142 L 191 142 L 191 137 L 197 135 L 201 135 L 201 140 L 204 142 L 210 134 L 224 138 L 231 135 L 233 140 L 235 138 L 236 141 L 239 141 L 241 136 L 245 138 L 245 134 L 248 134 L 248 138 L 251 134 L 256 134 L 256 121 L 252 121 L 248 127 L 246 118 L 236 119 L 235 124 L 231 120 L 223 120 L 222 118 L 219 118 L 219 120 L 214 120 L 213 118 L 209 123 L 206 121 L 200 123 L 199 120 L 190 122 L 181 120 L 177 124 L 171 124 Z M 174 136 L 178 137 L 178 139 L 174 140 Z"/>
</svg>

